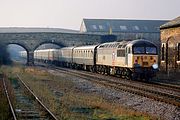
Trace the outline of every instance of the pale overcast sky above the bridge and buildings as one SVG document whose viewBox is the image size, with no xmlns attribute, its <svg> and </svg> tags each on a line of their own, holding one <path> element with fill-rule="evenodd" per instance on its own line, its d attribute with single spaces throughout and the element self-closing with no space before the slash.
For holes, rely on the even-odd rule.
<svg viewBox="0 0 180 120">
<path fill-rule="evenodd" d="M 174 19 L 180 0 L 0 0 L 0 27 L 79 30 L 83 18 Z"/>
</svg>

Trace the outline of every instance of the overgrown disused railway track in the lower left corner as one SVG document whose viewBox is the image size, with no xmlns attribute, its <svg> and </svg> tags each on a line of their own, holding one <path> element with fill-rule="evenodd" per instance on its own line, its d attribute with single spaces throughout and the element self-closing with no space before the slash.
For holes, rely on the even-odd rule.
<svg viewBox="0 0 180 120">
<path fill-rule="evenodd" d="M 11 80 L 14 90 L 16 104 L 13 105 L 9 99 L 6 81 L 3 78 L 4 89 L 11 108 L 14 120 L 57 120 L 51 111 L 38 99 L 33 91 L 20 79 Z"/>
</svg>

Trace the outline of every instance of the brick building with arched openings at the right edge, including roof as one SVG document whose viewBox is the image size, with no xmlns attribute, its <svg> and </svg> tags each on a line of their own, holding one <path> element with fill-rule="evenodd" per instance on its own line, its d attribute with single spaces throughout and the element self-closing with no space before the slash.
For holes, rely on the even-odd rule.
<svg viewBox="0 0 180 120">
<path fill-rule="evenodd" d="M 180 72 L 180 16 L 160 26 L 161 68 Z"/>
</svg>

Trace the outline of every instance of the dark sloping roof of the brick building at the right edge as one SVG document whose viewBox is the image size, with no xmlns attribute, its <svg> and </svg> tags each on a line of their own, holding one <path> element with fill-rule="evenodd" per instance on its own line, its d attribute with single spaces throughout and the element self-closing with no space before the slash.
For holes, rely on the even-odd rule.
<svg viewBox="0 0 180 120">
<path fill-rule="evenodd" d="M 176 27 L 176 26 L 180 26 L 180 16 L 171 20 L 170 22 L 163 24 L 160 27 L 160 29 L 171 28 L 171 27 Z"/>
</svg>

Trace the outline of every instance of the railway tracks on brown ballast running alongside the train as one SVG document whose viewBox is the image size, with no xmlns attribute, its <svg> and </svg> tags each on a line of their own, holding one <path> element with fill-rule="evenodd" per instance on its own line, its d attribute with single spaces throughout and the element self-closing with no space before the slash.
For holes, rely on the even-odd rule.
<svg viewBox="0 0 180 120">
<path fill-rule="evenodd" d="M 143 83 L 137 81 L 118 80 L 112 76 L 92 74 L 67 68 L 51 67 L 53 70 L 77 76 L 97 84 L 111 87 L 117 90 L 137 94 L 156 101 L 165 102 L 180 107 L 180 88 L 161 84 Z"/>
</svg>

